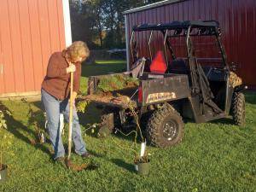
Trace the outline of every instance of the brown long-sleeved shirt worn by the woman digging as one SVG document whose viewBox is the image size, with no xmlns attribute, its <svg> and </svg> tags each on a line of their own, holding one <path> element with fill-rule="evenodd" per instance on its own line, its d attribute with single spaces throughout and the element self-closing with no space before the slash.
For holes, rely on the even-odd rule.
<svg viewBox="0 0 256 192">
<path fill-rule="evenodd" d="M 73 74 L 73 91 L 79 91 L 81 63 L 75 63 L 76 71 Z M 70 92 L 70 73 L 66 72 L 68 63 L 61 52 L 55 52 L 49 58 L 47 73 L 42 88 L 51 96 L 64 100 Z"/>
</svg>

